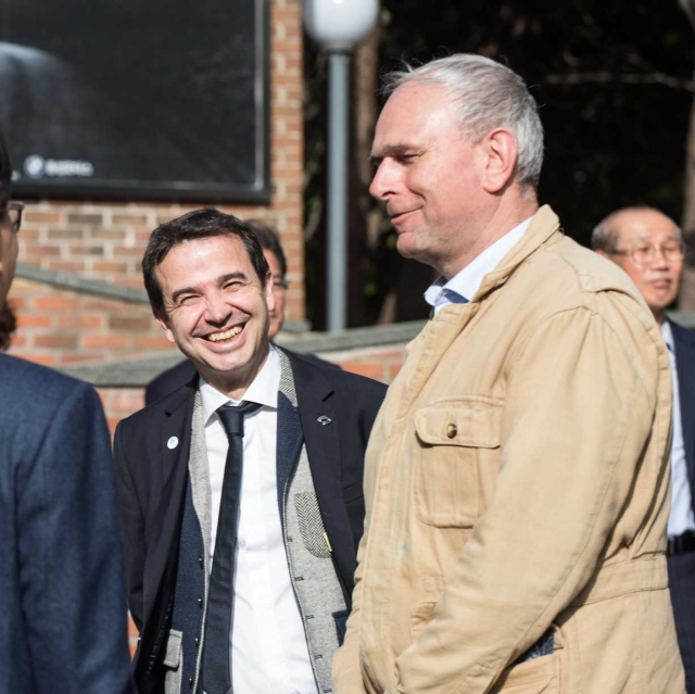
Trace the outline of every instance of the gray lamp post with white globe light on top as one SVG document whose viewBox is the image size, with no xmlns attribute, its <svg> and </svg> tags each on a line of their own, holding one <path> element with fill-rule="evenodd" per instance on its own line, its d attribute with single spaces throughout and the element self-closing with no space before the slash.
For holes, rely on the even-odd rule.
<svg viewBox="0 0 695 694">
<path fill-rule="evenodd" d="M 328 51 L 327 318 L 330 331 L 348 326 L 348 142 L 350 58 L 375 25 L 378 0 L 304 0 L 307 34 Z"/>
</svg>

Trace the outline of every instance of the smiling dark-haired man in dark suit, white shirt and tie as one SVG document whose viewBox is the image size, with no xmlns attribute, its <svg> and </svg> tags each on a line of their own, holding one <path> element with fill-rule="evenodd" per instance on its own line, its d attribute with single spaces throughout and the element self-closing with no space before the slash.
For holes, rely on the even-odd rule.
<svg viewBox="0 0 695 694">
<path fill-rule="evenodd" d="M 269 343 L 271 274 L 236 217 L 201 210 L 160 226 L 142 268 L 200 380 L 116 431 L 136 683 L 329 691 L 386 388 Z"/>
</svg>

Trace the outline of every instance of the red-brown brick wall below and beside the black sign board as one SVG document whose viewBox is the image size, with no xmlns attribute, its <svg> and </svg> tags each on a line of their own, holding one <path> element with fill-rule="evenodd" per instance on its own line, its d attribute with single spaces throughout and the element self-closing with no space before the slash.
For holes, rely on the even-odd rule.
<svg viewBox="0 0 695 694">
<path fill-rule="evenodd" d="M 302 26 L 300 0 L 270 1 L 269 205 L 148 204 L 40 201 L 27 204 L 20 258 L 45 270 L 142 287 L 140 260 L 152 229 L 189 210 L 215 205 L 274 225 L 286 250 L 287 313 L 304 318 Z M 11 301 L 20 331 L 12 353 L 49 365 L 113 359 L 162 350 L 147 306 L 16 280 Z"/>
</svg>

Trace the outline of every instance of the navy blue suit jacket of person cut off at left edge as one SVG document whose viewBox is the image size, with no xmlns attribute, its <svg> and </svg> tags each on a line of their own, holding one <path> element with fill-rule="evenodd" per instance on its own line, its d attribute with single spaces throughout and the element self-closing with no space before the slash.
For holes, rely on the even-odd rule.
<svg viewBox="0 0 695 694">
<path fill-rule="evenodd" d="M 111 440 L 94 390 L 0 354 L 0 691 L 129 692 Z"/>
</svg>

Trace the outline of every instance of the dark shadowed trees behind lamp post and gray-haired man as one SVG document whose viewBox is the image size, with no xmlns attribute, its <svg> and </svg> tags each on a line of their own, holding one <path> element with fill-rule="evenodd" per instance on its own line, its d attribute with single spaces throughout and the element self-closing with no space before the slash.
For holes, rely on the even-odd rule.
<svg viewBox="0 0 695 694">
<path fill-rule="evenodd" d="M 677 222 L 683 213 L 685 143 L 693 101 L 693 29 L 677 0 L 382 0 L 380 26 L 355 55 L 355 103 L 380 105 L 364 65 L 378 73 L 402 60 L 481 53 L 522 75 L 541 109 L 545 163 L 540 200 L 580 243 L 617 207 L 650 204 Z M 374 61 L 372 55 L 374 54 Z M 325 319 L 323 137 L 326 60 L 307 43 L 307 295 L 315 326 Z M 363 67 L 361 71 L 359 67 Z M 368 72 L 369 68 L 367 68 Z M 367 93 L 365 93 L 365 91 Z M 368 151 L 353 150 L 359 166 Z M 425 317 L 431 272 L 400 258 L 394 236 L 352 181 L 350 324 Z M 375 217 L 377 222 L 375 223 Z"/>
</svg>

